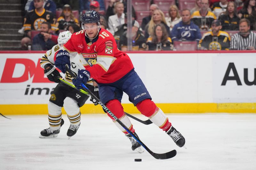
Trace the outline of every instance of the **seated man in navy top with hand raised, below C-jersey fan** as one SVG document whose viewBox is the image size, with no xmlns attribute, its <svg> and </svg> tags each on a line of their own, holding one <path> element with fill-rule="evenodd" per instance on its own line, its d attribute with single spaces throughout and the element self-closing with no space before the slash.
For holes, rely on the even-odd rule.
<svg viewBox="0 0 256 170">
<path fill-rule="evenodd" d="M 51 39 L 53 36 L 57 39 L 57 35 L 51 35 L 51 24 L 49 22 L 43 22 L 41 24 L 41 33 L 37 34 L 32 41 L 32 50 L 50 50 L 56 44 Z"/>
</svg>

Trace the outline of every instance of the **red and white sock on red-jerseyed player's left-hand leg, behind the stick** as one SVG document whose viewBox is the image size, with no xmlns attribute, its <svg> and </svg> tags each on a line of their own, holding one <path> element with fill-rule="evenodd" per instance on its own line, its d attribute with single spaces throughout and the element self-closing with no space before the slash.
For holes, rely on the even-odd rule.
<svg viewBox="0 0 256 170">
<path fill-rule="evenodd" d="M 121 105 L 121 103 L 114 99 L 114 100 L 110 100 L 106 103 L 106 106 L 108 107 L 108 109 L 122 122 L 124 123 L 124 125 L 129 128 L 132 132 L 134 132 L 135 130 L 133 129 L 132 123 L 130 121 L 130 119 L 124 114 L 124 108 Z M 110 116 L 108 114 L 108 116 L 112 119 L 112 121 L 115 123 L 115 125 L 125 134 L 127 134 L 128 132 L 118 123 L 114 120 L 114 118 L 112 116 Z"/>
</svg>

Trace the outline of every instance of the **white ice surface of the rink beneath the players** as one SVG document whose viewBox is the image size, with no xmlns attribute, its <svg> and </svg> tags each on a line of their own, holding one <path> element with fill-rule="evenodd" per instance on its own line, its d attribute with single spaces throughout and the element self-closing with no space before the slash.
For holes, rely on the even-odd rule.
<svg viewBox="0 0 256 170">
<path fill-rule="evenodd" d="M 146 120 L 143 115 L 134 114 Z M 136 133 L 156 153 L 177 150 L 157 160 L 131 143 L 107 115 L 82 115 L 75 136 L 67 139 L 69 121 L 56 138 L 41 139 L 47 115 L 0 116 L 0 170 L 255 170 L 256 114 L 168 114 L 186 139 L 179 148 L 156 125 L 132 120 Z M 134 162 L 140 158 L 142 162 Z"/>
</svg>

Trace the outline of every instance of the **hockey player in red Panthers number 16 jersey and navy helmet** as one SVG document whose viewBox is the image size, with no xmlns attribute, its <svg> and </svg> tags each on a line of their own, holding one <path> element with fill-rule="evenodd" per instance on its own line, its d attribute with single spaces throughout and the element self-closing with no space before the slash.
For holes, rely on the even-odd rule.
<svg viewBox="0 0 256 170">
<path fill-rule="evenodd" d="M 98 83 L 101 102 L 137 136 L 121 105 L 125 92 L 143 115 L 165 131 L 179 147 L 183 147 L 185 138 L 151 100 L 149 92 L 134 70 L 130 57 L 117 49 L 116 41 L 110 32 L 100 28 L 98 12 L 92 10 L 84 13 L 82 29 L 72 34 L 64 48 L 56 52 L 56 67 L 65 73 L 65 65 L 70 67 L 70 57 L 81 54 L 80 60 L 85 70 L 79 70 L 77 78 L 73 79 L 73 84 L 78 89 L 82 88 L 82 83 L 86 84 L 89 78 L 93 78 Z M 143 152 L 142 146 L 118 122 L 113 122 L 130 139 L 132 150 Z"/>
</svg>

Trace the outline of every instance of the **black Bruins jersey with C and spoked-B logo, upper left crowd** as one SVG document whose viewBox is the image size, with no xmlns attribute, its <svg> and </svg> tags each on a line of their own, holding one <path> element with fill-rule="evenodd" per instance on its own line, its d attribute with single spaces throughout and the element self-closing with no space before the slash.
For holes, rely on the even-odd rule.
<svg viewBox="0 0 256 170">
<path fill-rule="evenodd" d="M 40 14 L 37 10 L 31 10 L 26 13 L 24 18 L 24 31 L 40 30 L 43 22 L 49 22 L 52 26 L 53 31 L 57 31 L 58 28 L 55 26 L 56 19 L 51 11 L 45 10 Z"/>
</svg>

